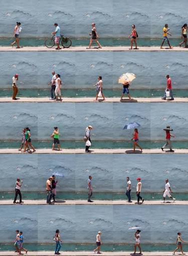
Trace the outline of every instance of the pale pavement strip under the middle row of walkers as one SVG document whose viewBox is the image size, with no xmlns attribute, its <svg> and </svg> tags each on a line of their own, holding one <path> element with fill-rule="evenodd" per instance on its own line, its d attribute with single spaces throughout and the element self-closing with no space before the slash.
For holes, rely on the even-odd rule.
<svg viewBox="0 0 188 256">
<path fill-rule="evenodd" d="M 35 146 L 35 145 L 34 145 Z M 86 153 L 85 149 L 63 149 L 62 151 L 52 149 L 36 149 L 32 154 L 188 154 L 188 149 L 173 149 L 162 151 L 161 149 L 143 149 L 133 152 L 132 149 L 92 149 L 91 153 Z M 0 149 L 0 154 L 29 154 L 28 152 L 20 152 L 18 149 Z"/>
</svg>

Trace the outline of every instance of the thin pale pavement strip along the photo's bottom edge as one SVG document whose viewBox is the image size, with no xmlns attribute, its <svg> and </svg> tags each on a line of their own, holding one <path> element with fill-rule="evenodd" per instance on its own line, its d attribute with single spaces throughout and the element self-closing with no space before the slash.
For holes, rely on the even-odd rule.
<svg viewBox="0 0 188 256">
<path fill-rule="evenodd" d="M 144 256 L 171 256 L 172 252 L 167 251 L 154 251 L 154 252 L 142 252 Z M 188 252 L 184 252 L 186 255 L 188 255 Z M 16 252 L 12 251 L 0 251 L 0 256 L 15 256 L 18 255 Z M 30 256 L 51 256 L 54 255 L 54 251 L 28 251 L 27 254 Z M 64 256 L 90 256 L 90 255 L 97 255 L 93 251 L 61 251 L 61 255 Z M 102 256 L 128 256 L 132 255 L 132 251 L 102 251 Z M 139 253 L 133 254 L 133 255 L 140 255 Z M 181 255 L 180 253 L 176 253 L 176 255 Z"/>
</svg>

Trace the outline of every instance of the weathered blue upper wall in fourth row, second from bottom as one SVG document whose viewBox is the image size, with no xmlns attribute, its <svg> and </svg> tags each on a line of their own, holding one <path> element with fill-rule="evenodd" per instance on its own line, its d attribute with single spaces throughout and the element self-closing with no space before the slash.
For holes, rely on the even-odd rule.
<svg viewBox="0 0 188 256">
<path fill-rule="evenodd" d="M 169 179 L 173 192 L 188 192 L 186 155 L 0 155 L 0 191 L 13 191 L 17 177 L 24 180 L 23 191 L 45 191 L 46 180 L 54 172 L 57 191 L 87 192 L 87 179 L 93 177 L 94 192 L 124 192 L 126 177 L 136 189 L 136 178 L 142 178 L 143 192 L 162 192 Z M 11 175 L 10 175 L 11 174 Z M 177 178 L 178 177 L 178 178 Z"/>
</svg>

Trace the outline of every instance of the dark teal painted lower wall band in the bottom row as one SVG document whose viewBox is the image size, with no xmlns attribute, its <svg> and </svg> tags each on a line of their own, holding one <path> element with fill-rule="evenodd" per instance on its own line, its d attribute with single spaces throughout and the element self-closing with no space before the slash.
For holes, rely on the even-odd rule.
<svg viewBox="0 0 188 256">
<path fill-rule="evenodd" d="M 30 251 L 34 250 L 46 250 L 53 251 L 56 243 L 52 243 L 52 237 L 49 238 L 50 243 L 24 243 L 24 247 Z M 175 242 L 175 241 L 174 241 Z M 93 251 L 96 247 L 95 243 L 62 243 L 61 251 Z M 101 245 L 101 251 L 132 251 L 134 244 L 113 244 L 103 243 Z M 175 244 L 141 244 L 143 251 L 172 251 L 175 249 Z M 14 243 L 0 243 L 0 251 L 14 250 Z M 188 244 L 183 244 L 183 250 L 188 250 Z"/>
</svg>

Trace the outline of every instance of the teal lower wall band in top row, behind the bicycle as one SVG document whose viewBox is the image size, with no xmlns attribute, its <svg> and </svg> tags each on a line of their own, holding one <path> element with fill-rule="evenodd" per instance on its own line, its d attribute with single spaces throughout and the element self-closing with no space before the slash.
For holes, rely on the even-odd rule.
<svg viewBox="0 0 188 256">
<path fill-rule="evenodd" d="M 20 38 L 21 46 L 44 46 L 46 38 Z M 71 38 L 72 46 L 88 46 L 89 38 Z M 182 39 L 169 39 L 172 46 L 178 46 Z M 10 46 L 14 41 L 14 38 L 0 38 L 0 46 Z M 130 39 L 127 38 L 100 38 L 100 44 L 102 46 L 129 46 Z M 147 38 L 138 38 L 137 44 L 139 46 L 160 46 L 162 41 L 161 39 L 147 39 Z M 95 44 L 93 44 L 94 46 Z M 165 46 L 165 44 L 164 44 Z M 167 46 L 167 43 L 166 43 Z"/>
</svg>

